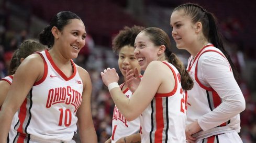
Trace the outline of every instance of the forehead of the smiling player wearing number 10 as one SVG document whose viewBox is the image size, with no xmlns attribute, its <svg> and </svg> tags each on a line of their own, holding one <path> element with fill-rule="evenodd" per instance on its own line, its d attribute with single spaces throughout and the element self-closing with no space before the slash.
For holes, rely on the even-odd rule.
<svg viewBox="0 0 256 143">
<path fill-rule="evenodd" d="M 69 29 L 69 30 L 78 30 L 78 31 L 81 31 L 82 33 L 86 33 L 85 32 L 85 26 L 84 26 L 84 23 L 82 20 L 80 19 L 71 19 L 69 21 L 69 24 L 67 24 L 65 26 L 66 29 Z"/>
</svg>

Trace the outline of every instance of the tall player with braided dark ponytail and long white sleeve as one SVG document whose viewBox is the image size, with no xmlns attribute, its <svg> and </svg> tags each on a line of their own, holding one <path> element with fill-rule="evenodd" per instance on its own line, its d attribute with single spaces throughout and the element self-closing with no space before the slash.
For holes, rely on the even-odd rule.
<svg viewBox="0 0 256 143">
<path fill-rule="evenodd" d="M 186 139 L 191 142 L 242 142 L 239 113 L 245 101 L 237 73 L 212 13 L 196 4 L 176 7 L 172 36 L 191 57 L 187 71 L 195 84 L 188 91 Z"/>
</svg>

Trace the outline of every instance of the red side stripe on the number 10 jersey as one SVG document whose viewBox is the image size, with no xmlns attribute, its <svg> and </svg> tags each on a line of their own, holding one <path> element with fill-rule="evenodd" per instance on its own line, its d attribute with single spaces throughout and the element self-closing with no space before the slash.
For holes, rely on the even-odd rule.
<svg viewBox="0 0 256 143">
<path fill-rule="evenodd" d="M 17 129 L 17 132 L 19 133 L 23 133 L 23 125 L 24 125 L 24 121 L 25 121 L 25 118 L 26 118 L 26 113 L 27 113 L 27 98 L 23 101 L 22 105 L 20 106 L 19 108 L 19 121 L 20 121 L 20 125 Z"/>
</svg>

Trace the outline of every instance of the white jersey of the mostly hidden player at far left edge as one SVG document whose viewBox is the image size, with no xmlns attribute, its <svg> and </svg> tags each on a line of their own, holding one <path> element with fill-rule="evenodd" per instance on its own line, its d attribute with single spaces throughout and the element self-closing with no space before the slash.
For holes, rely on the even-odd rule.
<svg viewBox="0 0 256 143">
<path fill-rule="evenodd" d="M 2 79 L 3 81 L 6 81 L 8 82 L 9 84 L 12 84 L 13 82 L 13 76 L 12 75 L 9 75 L 9 76 L 6 76 Z M 1 110 L 1 108 L 0 108 Z M 16 112 L 13 116 L 13 121 L 12 121 L 12 124 L 10 125 L 10 131 L 9 131 L 9 134 L 8 134 L 8 139 L 7 141 L 8 142 L 13 142 L 14 138 L 15 138 L 15 135 L 17 133 L 17 131 L 15 131 L 14 127 L 15 125 L 19 122 L 19 118 L 18 118 L 18 112 Z"/>
</svg>

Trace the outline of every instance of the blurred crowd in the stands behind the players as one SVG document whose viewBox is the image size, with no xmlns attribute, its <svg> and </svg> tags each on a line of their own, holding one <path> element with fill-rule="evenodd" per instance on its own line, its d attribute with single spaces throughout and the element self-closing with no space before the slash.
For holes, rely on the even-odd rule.
<svg viewBox="0 0 256 143">
<path fill-rule="evenodd" d="M 3 20 L 4 16 L 1 16 Z M 246 110 L 240 114 L 241 117 L 241 136 L 243 142 L 256 142 L 256 68 L 248 67 L 250 61 L 255 61 L 254 48 L 246 48 L 241 43 L 233 42 L 237 32 L 243 29 L 236 19 L 222 22 L 221 28 L 224 36 L 229 40 L 226 47 L 230 56 L 240 73 L 239 85 L 246 98 Z M 6 23 L 0 25 L 0 77 L 7 75 L 9 61 L 13 51 L 19 48 L 21 42 L 31 37 L 27 30 L 12 31 L 8 30 Z M 178 54 L 181 58 L 188 56 L 183 53 Z M 185 57 L 184 59 L 187 59 Z M 112 134 L 112 115 L 114 102 L 110 97 L 107 87 L 102 83 L 100 72 L 107 67 L 118 69 L 117 55 L 112 52 L 111 47 L 103 47 L 94 43 L 93 37 L 88 33 L 86 45 L 81 49 L 79 56 L 74 59 L 75 63 L 86 69 L 90 75 L 93 85 L 92 91 L 92 115 L 94 126 L 99 142 L 106 141 Z M 186 64 L 186 61 L 184 61 Z M 247 70 L 250 70 L 248 72 Z M 252 71 L 251 71 L 252 70 Z M 249 75 L 248 75 L 249 73 Z M 121 76 L 121 74 L 119 74 Z M 249 80 L 246 77 L 249 76 Z M 122 79 L 122 78 L 120 78 Z M 123 81 L 119 81 L 122 83 Z M 79 135 L 74 136 L 74 140 L 79 142 Z"/>
</svg>

